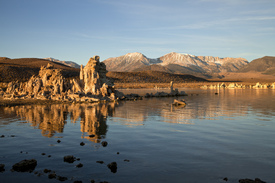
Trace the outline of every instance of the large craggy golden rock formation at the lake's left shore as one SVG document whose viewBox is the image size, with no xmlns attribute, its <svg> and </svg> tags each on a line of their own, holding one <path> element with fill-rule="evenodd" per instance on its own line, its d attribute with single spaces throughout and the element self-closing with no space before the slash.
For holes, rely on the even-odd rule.
<svg viewBox="0 0 275 183">
<path fill-rule="evenodd" d="M 98 102 L 118 100 L 124 97 L 106 78 L 106 66 L 99 61 L 99 56 L 90 58 L 87 65 L 81 65 L 79 79 L 65 80 L 60 69 L 51 64 L 40 68 L 38 76 L 32 76 L 28 82 L 11 82 L 6 92 L 6 99 L 49 99 L 76 102 Z M 124 97 L 125 98 L 125 97 Z"/>
</svg>

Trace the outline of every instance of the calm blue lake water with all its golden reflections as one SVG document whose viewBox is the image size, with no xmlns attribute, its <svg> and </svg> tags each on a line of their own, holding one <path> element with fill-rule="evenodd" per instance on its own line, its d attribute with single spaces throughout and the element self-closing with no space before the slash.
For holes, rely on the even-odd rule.
<svg viewBox="0 0 275 183">
<path fill-rule="evenodd" d="M 185 107 L 172 106 L 172 97 L 0 108 L 0 182 L 59 182 L 44 169 L 66 182 L 275 182 L 275 90 L 184 91 Z M 79 160 L 64 162 L 66 155 Z M 32 158 L 33 172 L 10 171 Z"/>
</svg>

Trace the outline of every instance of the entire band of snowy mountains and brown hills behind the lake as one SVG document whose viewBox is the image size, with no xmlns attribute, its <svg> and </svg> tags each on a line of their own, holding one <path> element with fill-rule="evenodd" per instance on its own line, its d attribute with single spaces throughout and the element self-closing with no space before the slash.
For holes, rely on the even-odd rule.
<svg viewBox="0 0 275 183">
<path fill-rule="evenodd" d="M 107 76 L 116 82 L 202 81 L 198 77 L 223 78 L 227 81 L 274 81 L 275 79 L 275 57 L 272 56 L 247 62 L 242 58 L 194 56 L 174 52 L 156 59 L 147 58 L 141 53 L 128 53 L 103 62 L 109 71 Z M 53 58 L 0 57 L 0 82 L 27 81 L 32 75 L 38 74 L 41 66 L 46 66 L 48 63 L 62 69 L 65 78 L 79 76 L 79 65 L 70 61 L 67 63 L 72 65 L 65 65 L 63 61 Z"/>
</svg>

